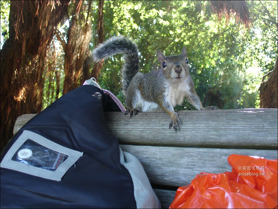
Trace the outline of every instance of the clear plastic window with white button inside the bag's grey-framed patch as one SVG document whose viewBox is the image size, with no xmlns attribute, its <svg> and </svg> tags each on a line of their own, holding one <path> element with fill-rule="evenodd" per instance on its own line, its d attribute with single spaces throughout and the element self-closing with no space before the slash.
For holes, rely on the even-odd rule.
<svg viewBox="0 0 278 209">
<path fill-rule="evenodd" d="M 13 161 L 55 171 L 69 156 L 27 139 L 12 157 Z"/>
</svg>

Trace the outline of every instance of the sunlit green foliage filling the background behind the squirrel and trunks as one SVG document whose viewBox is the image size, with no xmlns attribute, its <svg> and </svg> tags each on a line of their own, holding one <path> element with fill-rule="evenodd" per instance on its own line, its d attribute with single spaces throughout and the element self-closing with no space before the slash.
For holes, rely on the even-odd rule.
<svg viewBox="0 0 278 209">
<path fill-rule="evenodd" d="M 69 14 L 74 8 L 71 4 Z M 141 53 L 140 71 L 143 73 L 160 68 L 157 50 L 174 55 L 180 54 L 186 46 L 191 77 L 204 106 L 255 108 L 259 107 L 261 79 L 274 68 L 277 59 L 277 1 L 248 1 L 248 5 L 254 26 L 250 29 L 235 18 L 219 21 L 209 1 L 105 1 L 105 39 L 120 34 L 134 39 Z M 1 1 L 2 33 L 8 28 L 8 6 L 9 1 Z M 90 49 L 96 46 L 97 10 L 98 2 L 94 1 Z M 64 41 L 67 29 L 68 26 L 63 25 L 57 33 Z M 56 53 L 55 69 L 60 74 L 61 90 L 64 74 L 63 67 L 59 66 L 63 66 L 64 52 L 56 50 Z M 48 63 L 52 64 L 54 62 Z M 98 82 L 124 103 L 122 64 L 122 55 L 107 59 Z M 52 92 L 57 89 L 57 81 L 51 73 L 45 76 L 44 106 L 47 106 L 56 98 Z M 194 107 L 185 101 L 176 109 Z"/>
</svg>

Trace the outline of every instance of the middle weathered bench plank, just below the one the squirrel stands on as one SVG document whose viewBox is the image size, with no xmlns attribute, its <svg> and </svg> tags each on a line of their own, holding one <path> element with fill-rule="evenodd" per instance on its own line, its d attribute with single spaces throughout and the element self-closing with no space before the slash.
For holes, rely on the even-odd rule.
<svg viewBox="0 0 278 209">
<path fill-rule="evenodd" d="M 133 154 L 142 166 L 151 184 L 185 186 L 200 172 L 231 171 L 227 157 L 231 154 L 277 159 L 277 150 L 185 148 L 120 145 Z M 242 165 L 245 166 L 245 165 Z"/>
</svg>

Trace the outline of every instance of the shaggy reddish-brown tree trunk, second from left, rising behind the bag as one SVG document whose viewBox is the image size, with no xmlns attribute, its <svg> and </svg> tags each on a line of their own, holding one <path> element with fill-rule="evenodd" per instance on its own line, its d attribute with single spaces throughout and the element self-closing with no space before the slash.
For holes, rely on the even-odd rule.
<svg viewBox="0 0 278 209">
<path fill-rule="evenodd" d="M 75 1 L 65 46 L 63 94 L 81 86 L 87 79 L 83 77 L 83 72 L 87 71 L 86 60 L 90 56 L 89 43 L 92 36 L 91 3 L 89 1 L 89 4 L 85 5 L 85 1 Z M 87 7 L 87 10 L 80 9 L 82 7 Z M 85 18 L 85 13 L 87 13 L 87 18 Z"/>
</svg>

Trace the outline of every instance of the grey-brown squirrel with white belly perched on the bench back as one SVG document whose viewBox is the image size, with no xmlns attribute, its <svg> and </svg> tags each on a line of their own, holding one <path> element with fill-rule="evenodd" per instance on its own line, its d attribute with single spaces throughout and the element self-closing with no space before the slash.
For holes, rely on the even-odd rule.
<svg viewBox="0 0 278 209">
<path fill-rule="evenodd" d="M 157 51 L 157 58 L 161 69 L 143 74 L 139 72 L 140 55 L 135 42 L 118 36 L 99 44 L 92 51 L 92 59 L 100 62 L 115 54 L 124 54 L 122 74 L 122 92 L 125 96 L 129 117 L 138 112 L 164 110 L 171 117 L 169 129 L 179 130 L 182 124 L 178 114 L 174 111 L 176 105 L 182 104 L 184 97 L 197 110 L 218 109 L 217 107 L 204 108 L 195 92 L 195 87 L 189 75 L 189 61 L 185 46 L 181 55 L 164 56 Z"/>
</svg>

